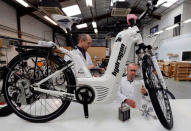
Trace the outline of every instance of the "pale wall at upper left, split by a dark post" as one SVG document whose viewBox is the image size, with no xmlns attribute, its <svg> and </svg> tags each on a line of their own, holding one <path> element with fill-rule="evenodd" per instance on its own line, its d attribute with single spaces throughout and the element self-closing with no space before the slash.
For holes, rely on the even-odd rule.
<svg viewBox="0 0 191 131">
<path fill-rule="evenodd" d="M 37 19 L 25 15 L 21 17 L 22 38 L 37 41 L 52 40 L 52 29 Z M 18 37 L 16 9 L 0 1 L 0 35 Z"/>
</svg>

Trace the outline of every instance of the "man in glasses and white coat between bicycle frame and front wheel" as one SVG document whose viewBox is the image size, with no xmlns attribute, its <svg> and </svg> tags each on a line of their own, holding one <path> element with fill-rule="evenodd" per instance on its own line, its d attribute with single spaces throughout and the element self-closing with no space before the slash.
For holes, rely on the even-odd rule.
<svg viewBox="0 0 191 131">
<path fill-rule="evenodd" d="M 120 102 L 124 101 L 126 104 L 128 104 L 132 108 L 136 107 L 136 102 L 133 99 L 133 97 L 134 97 L 134 87 L 135 87 L 134 79 L 137 73 L 137 69 L 138 67 L 134 63 L 130 63 L 127 66 L 127 76 L 122 78 L 120 89 L 118 91 L 118 96 L 117 96 L 118 101 Z M 147 91 L 142 85 L 141 94 L 144 95 L 146 93 Z"/>
</svg>

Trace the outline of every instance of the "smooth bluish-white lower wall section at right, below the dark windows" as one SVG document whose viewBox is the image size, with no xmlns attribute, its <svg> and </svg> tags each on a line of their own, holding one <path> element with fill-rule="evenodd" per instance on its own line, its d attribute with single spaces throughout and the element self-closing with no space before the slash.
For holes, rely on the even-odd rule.
<svg viewBox="0 0 191 131">
<path fill-rule="evenodd" d="M 162 40 L 157 50 L 158 60 L 182 61 L 182 52 L 191 51 L 191 33 Z M 168 53 L 178 54 L 178 57 L 169 57 Z"/>
</svg>

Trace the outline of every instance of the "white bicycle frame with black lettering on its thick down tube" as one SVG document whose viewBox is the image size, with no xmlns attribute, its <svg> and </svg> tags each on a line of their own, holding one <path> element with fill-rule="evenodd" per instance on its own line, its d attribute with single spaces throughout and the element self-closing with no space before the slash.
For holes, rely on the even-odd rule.
<svg viewBox="0 0 191 131">
<path fill-rule="evenodd" d="M 75 72 L 74 74 L 77 78 L 76 79 L 77 87 L 88 86 L 92 88 L 95 93 L 95 99 L 93 103 L 112 102 L 116 98 L 126 61 L 132 59 L 131 54 L 134 53 L 133 52 L 134 45 L 142 43 L 142 37 L 138 32 L 139 29 L 137 28 L 137 26 L 134 26 L 132 28 L 129 27 L 128 29 L 121 31 L 116 36 L 112 54 L 107 66 L 107 70 L 105 74 L 101 77 L 92 77 L 90 71 L 87 69 L 85 63 L 81 60 L 80 56 L 76 51 L 68 51 L 64 48 L 59 48 L 58 46 L 56 46 L 61 53 L 71 57 L 72 63 L 54 72 L 45 79 L 42 79 L 38 83 L 33 84 L 34 90 L 51 94 L 54 96 L 75 97 L 74 94 L 70 93 L 40 89 L 40 84 L 49 80 L 52 77 L 58 76 L 60 73 L 62 73 L 63 70 L 74 65 L 74 72 Z M 162 82 L 163 84 L 165 84 L 158 63 L 156 61 L 156 58 L 155 57 L 152 58 L 156 71 L 160 76 L 160 80 L 163 81 Z M 83 72 L 84 76 L 79 75 L 77 67 L 80 67 L 80 70 Z"/>
</svg>

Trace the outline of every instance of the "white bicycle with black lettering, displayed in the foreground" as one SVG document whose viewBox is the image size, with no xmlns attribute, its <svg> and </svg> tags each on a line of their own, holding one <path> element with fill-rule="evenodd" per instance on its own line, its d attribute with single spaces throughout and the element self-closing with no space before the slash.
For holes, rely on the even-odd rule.
<svg viewBox="0 0 191 131">
<path fill-rule="evenodd" d="M 149 2 L 139 19 L 153 11 L 155 4 L 156 0 Z M 64 113 L 70 102 L 78 102 L 83 104 L 87 118 L 88 104 L 112 102 L 116 98 L 126 61 L 134 53 L 131 48 L 137 44 L 144 83 L 156 115 L 165 128 L 171 129 L 173 115 L 156 57 L 151 46 L 143 44 L 138 27 L 133 23 L 131 26 L 116 36 L 107 70 L 101 77 L 92 77 L 75 50 L 68 51 L 56 44 L 51 47 L 18 46 L 20 53 L 9 62 L 4 77 L 3 93 L 7 104 L 27 121 L 46 122 Z M 55 48 L 71 57 L 71 61 L 64 61 Z M 22 63 L 27 63 L 34 71 L 26 71 Z"/>
</svg>

